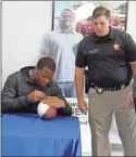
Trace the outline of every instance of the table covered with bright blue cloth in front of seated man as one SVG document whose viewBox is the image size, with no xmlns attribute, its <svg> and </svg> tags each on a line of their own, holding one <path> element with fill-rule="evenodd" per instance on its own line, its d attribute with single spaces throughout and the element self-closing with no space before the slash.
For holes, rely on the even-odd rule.
<svg viewBox="0 0 136 157">
<path fill-rule="evenodd" d="M 2 156 L 82 156 L 77 117 L 4 114 L 1 120 Z"/>
</svg>

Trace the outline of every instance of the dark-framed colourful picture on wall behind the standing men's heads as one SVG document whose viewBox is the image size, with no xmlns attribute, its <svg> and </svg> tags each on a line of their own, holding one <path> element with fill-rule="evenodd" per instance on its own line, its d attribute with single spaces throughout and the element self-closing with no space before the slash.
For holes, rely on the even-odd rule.
<svg viewBox="0 0 136 157">
<path fill-rule="evenodd" d="M 81 26 L 85 25 L 87 32 L 91 29 L 91 14 L 97 6 L 106 6 L 111 12 L 110 25 L 126 30 L 127 1 L 53 1 L 52 30 L 58 29 L 62 10 L 70 9 L 74 14 L 73 27 L 82 32 Z M 86 36 L 84 32 L 82 32 Z"/>
</svg>

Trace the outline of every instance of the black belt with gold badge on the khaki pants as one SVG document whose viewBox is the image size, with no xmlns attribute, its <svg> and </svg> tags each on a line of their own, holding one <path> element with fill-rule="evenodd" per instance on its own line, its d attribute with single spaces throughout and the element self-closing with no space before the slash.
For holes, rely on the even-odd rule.
<svg viewBox="0 0 136 157">
<path fill-rule="evenodd" d="M 129 83 L 125 83 L 119 87 L 113 87 L 113 88 L 101 88 L 101 87 L 97 87 L 94 83 L 90 83 L 90 88 L 96 89 L 97 93 L 102 94 L 104 91 L 119 91 L 122 89 L 125 89 Z"/>
</svg>

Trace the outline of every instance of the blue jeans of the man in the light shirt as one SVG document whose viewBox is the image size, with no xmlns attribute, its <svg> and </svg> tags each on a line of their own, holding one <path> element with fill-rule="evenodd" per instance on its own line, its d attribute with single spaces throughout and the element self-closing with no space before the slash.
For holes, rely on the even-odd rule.
<svg viewBox="0 0 136 157">
<path fill-rule="evenodd" d="M 74 82 L 59 82 L 58 84 L 65 97 L 76 97 Z"/>
</svg>

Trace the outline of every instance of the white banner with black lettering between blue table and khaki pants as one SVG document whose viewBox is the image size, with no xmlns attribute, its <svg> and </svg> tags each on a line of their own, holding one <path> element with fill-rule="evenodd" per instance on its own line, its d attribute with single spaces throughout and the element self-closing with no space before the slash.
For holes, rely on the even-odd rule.
<svg viewBox="0 0 136 157">
<path fill-rule="evenodd" d="M 79 119 L 82 153 L 90 154 L 91 153 L 91 135 L 90 135 L 90 129 L 89 129 L 89 123 L 88 123 L 88 112 L 86 115 L 81 113 L 77 106 L 77 99 L 66 97 L 66 101 L 72 106 L 73 116 L 76 116 Z M 88 104 L 88 99 L 85 99 L 85 101 Z"/>
</svg>

